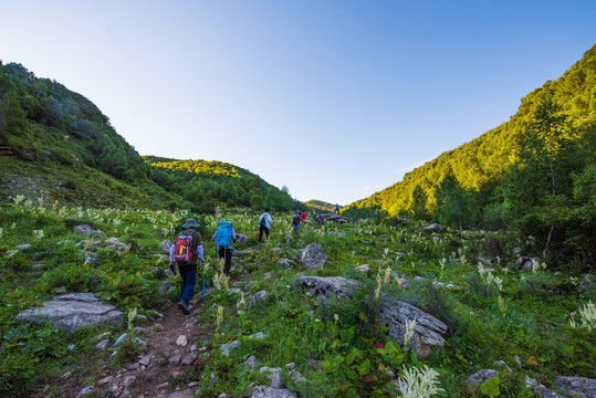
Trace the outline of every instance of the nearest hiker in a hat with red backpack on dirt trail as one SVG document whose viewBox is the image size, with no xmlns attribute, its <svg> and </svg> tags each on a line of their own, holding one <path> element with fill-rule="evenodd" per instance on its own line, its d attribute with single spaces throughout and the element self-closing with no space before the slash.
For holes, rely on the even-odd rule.
<svg viewBox="0 0 596 398">
<path fill-rule="evenodd" d="M 184 231 L 176 238 L 169 250 L 169 266 L 176 273 L 175 266 L 178 264 L 178 270 L 182 277 L 178 310 L 181 310 L 185 315 L 190 314 L 188 304 L 197 282 L 197 264 L 199 260 L 205 260 L 202 256 L 201 234 L 197 231 L 199 227 L 200 224 L 195 219 L 186 220 L 182 226 Z"/>
</svg>

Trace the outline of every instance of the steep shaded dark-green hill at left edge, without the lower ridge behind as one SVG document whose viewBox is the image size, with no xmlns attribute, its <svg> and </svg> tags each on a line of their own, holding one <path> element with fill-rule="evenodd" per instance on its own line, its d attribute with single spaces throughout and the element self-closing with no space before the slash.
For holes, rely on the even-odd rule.
<svg viewBox="0 0 596 398">
<path fill-rule="evenodd" d="M 165 206 L 176 196 L 87 98 L 20 64 L 0 63 L 2 201 L 30 199 L 88 206 Z"/>
</svg>

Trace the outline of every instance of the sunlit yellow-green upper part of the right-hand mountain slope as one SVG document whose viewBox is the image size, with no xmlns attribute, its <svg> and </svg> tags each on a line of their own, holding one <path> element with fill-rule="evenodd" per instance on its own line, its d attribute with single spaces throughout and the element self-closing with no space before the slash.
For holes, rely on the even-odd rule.
<svg viewBox="0 0 596 398">
<path fill-rule="evenodd" d="M 554 82 L 546 82 L 541 88 L 522 98 L 517 113 L 509 122 L 470 143 L 441 154 L 432 161 L 408 172 L 401 181 L 349 205 L 348 209 L 380 207 L 389 214 L 396 216 L 400 210 L 411 208 L 412 192 L 417 186 L 427 195 L 429 207 L 432 208 L 435 190 L 448 174 L 452 174 L 467 189 L 478 189 L 487 181 L 500 179 L 503 170 L 516 159 L 517 138 L 547 90 L 582 132 L 594 132 L 596 45 L 563 76 Z"/>
</svg>

